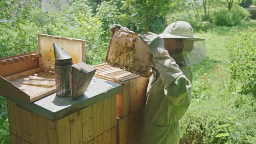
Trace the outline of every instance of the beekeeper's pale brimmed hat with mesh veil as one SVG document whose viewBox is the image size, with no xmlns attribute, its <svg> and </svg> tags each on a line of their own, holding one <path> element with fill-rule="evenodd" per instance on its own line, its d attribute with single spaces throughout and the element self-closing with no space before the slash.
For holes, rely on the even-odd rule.
<svg viewBox="0 0 256 144">
<path fill-rule="evenodd" d="M 188 22 L 177 21 L 159 34 L 162 39 L 183 39 L 182 52 L 171 55 L 177 63 L 192 65 L 203 61 L 206 57 L 205 39 L 198 38 Z"/>
</svg>

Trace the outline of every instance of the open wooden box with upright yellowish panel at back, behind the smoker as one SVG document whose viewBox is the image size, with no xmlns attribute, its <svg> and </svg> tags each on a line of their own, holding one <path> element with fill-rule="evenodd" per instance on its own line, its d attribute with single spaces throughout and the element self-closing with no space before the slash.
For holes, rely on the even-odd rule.
<svg viewBox="0 0 256 144">
<path fill-rule="evenodd" d="M 54 79 L 53 43 L 69 52 L 73 57 L 73 64 L 85 61 L 85 40 L 38 34 L 39 51 L 0 58 L 0 94 L 31 103 L 54 93 L 55 86 L 49 86 L 49 82 Z M 24 85 L 24 81 L 34 77 L 50 80 L 35 80 L 37 86 L 31 83 Z M 44 87 L 38 87 L 39 85 Z"/>
</svg>

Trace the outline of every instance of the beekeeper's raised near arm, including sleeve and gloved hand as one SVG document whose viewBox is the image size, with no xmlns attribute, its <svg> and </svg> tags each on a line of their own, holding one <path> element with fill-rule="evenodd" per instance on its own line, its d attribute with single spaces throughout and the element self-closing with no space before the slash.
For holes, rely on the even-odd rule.
<svg viewBox="0 0 256 144">
<path fill-rule="evenodd" d="M 157 34 L 148 32 L 139 38 L 149 46 L 153 54 L 155 66 L 160 73 L 160 79 L 165 85 L 164 93 L 174 105 L 180 105 L 191 87 L 188 77 L 179 69 L 178 64 L 164 49 L 164 40 Z"/>
</svg>

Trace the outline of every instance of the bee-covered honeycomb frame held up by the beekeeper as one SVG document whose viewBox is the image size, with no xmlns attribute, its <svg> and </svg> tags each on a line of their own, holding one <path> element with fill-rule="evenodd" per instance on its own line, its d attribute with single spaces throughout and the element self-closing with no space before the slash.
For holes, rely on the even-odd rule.
<svg viewBox="0 0 256 144">
<path fill-rule="evenodd" d="M 152 58 L 148 46 L 138 39 L 137 33 L 116 30 L 111 36 L 105 61 L 113 67 L 148 77 Z"/>
</svg>

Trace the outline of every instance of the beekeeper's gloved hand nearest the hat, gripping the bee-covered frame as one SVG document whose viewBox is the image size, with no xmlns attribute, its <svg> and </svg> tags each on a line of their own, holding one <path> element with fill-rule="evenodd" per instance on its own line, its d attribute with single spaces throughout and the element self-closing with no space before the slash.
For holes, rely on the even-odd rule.
<svg viewBox="0 0 256 144">
<path fill-rule="evenodd" d="M 139 39 L 149 47 L 149 51 L 154 55 L 158 52 L 158 48 L 164 49 L 164 40 L 158 34 L 147 32 L 146 34 L 139 34 Z"/>
</svg>

